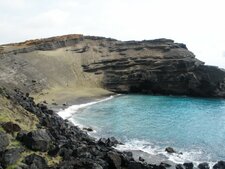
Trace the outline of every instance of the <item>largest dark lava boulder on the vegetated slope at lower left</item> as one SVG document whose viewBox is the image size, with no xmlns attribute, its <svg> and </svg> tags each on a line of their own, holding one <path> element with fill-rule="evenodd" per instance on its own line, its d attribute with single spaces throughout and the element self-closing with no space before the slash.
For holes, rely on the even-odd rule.
<svg viewBox="0 0 225 169">
<path fill-rule="evenodd" d="M 51 138 L 45 129 L 39 129 L 24 134 L 21 141 L 28 148 L 42 152 L 47 151 L 51 145 Z"/>
</svg>

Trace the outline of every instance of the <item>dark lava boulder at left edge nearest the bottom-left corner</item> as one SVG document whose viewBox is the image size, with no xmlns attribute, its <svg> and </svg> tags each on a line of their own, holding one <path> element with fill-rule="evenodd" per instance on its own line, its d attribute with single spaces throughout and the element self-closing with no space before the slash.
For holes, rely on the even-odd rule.
<svg viewBox="0 0 225 169">
<path fill-rule="evenodd" d="M 24 149 L 22 148 L 12 148 L 6 150 L 2 154 L 2 164 L 4 167 L 7 167 L 9 165 L 15 164 L 17 160 L 20 158 L 21 152 L 23 152 Z"/>
</svg>

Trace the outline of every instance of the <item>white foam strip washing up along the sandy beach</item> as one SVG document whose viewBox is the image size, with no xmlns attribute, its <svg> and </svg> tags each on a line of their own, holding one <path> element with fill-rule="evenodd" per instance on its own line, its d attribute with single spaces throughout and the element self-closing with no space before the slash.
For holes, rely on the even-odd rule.
<svg viewBox="0 0 225 169">
<path fill-rule="evenodd" d="M 105 99 L 102 99 L 102 100 L 98 100 L 98 101 L 93 101 L 93 102 L 89 102 L 89 103 L 84 103 L 84 104 L 78 104 L 78 105 L 72 105 L 64 110 L 60 110 L 58 112 L 58 115 L 60 117 L 62 117 L 63 119 L 69 119 L 74 113 L 76 113 L 79 109 L 81 108 L 84 108 L 84 107 L 87 107 L 87 106 L 91 106 L 93 104 L 97 104 L 97 103 L 100 103 L 100 102 L 104 102 L 104 101 L 107 101 L 107 100 L 110 100 L 112 99 L 114 96 L 110 96 L 110 97 L 107 97 Z"/>
</svg>

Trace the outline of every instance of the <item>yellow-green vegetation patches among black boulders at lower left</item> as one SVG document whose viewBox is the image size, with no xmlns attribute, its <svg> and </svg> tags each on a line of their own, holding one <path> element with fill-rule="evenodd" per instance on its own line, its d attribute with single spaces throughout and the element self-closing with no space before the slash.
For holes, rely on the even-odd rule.
<svg viewBox="0 0 225 169">
<path fill-rule="evenodd" d="M 32 113 L 26 111 L 19 105 L 12 103 L 4 96 L 1 96 L 2 90 L 0 90 L 0 124 L 4 122 L 13 122 L 18 124 L 22 130 L 31 131 L 36 129 L 36 124 L 38 123 L 38 119 Z M 0 125 L 0 131 L 5 132 L 4 129 Z M 30 154 L 37 154 L 45 158 L 49 166 L 54 166 L 61 161 L 60 156 L 51 157 L 47 153 L 43 152 L 35 152 L 24 147 L 19 141 L 16 140 L 17 133 L 8 134 L 8 138 L 10 140 L 10 144 L 7 147 L 10 148 L 19 148 L 23 147 L 25 151 L 21 153 L 20 159 L 13 165 L 7 167 L 7 169 L 15 169 L 19 165 L 22 164 L 23 159 Z"/>
</svg>

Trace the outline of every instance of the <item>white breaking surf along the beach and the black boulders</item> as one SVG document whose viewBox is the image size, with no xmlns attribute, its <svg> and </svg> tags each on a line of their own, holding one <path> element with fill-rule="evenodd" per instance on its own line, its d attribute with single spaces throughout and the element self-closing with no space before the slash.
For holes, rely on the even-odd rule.
<svg viewBox="0 0 225 169">
<path fill-rule="evenodd" d="M 80 124 L 74 118 L 71 118 L 73 116 L 73 114 L 77 113 L 79 111 L 79 109 L 81 109 L 81 108 L 85 108 L 87 106 L 101 103 L 101 102 L 113 99 L 114 97 L 115 96 L 110 96 L 110 97 L 107 97 L 107 98 L 104 98 L 104 99 L 101 99 L 98 101 L 93 101 L 93 102 L 80 104 L 80 105 L 72 105 L 64 110 L 59 111 L 58 115 L 61 116 L 63 119 L 68 119 L 74 125 L 77 125 L 80 128 L 83 128 L 86 126 Z M 92 127 L 94 127 L 94 126 L 92 126 Z M 93 132 L 88 133 L 88 134 L 90 134 L 90 135 L 94 136 L 96 139 L 98 139 L 98 134 L 96 134 L 96 133 L 99 133 L 99 132 L 101 133 L 101 129 L 96 129 Z M 142 151 L 142 152 L 145 152 L 145 153 L 153 155 L 153 156 L 163 157 L 164 160 L 166 159 L 166 160 L 172 161 L 176 164 L 183 164 L 185 162 L 193 162 L 194 166 L 197 167 L 197 165 L 200 163 L 208 162 L 210 165 L 210 168 L 212 168 L 213 164 L 215 164 L 215 162 L 210 161 L 210 159 L 211 159 L 210 155 L 209 155 L 209 157 L 205 157 L 206 154 L 201 150 L 198 150 L 198 149 L 191 149 L 188 151 L 187 150 L 179 150 L 180 152 L 182 152 L 182 154 L 179 154 L 179 153 L 169 154 L 169 153 L 165 152 L 165 147 L 157 146 L 157 144 L 151 143 L 151 142 L 148 142 L 145 140 L 138 140 L 138 139 L 127 140 L 127 141 L 125 141 L 124 145 L 118 145 L 115 148 L 120 151 L 135 151 L 135 150 Z M 208 159 L 208 160 L 203 161 L 202 157 L 204 157 L 204 160 L 205 159 Z"/>
</svg>

